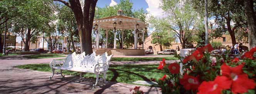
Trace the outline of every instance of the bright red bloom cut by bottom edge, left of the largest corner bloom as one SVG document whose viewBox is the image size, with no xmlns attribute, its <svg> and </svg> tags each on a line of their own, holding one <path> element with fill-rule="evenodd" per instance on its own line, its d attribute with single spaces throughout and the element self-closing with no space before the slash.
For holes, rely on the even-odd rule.
<svg viewBox="0 0 256 94">
<path fill-rule="evenodd" d="M 229 89 L 231 81 L 226 76 L 217 76 L 214 81 L 202 82 L 197 94 L 222 94 L 222 90 Z"/>
</svg>

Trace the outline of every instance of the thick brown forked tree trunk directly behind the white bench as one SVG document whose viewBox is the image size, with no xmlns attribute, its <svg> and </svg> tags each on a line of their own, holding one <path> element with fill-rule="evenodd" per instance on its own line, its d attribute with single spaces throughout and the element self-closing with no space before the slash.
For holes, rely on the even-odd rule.
<svg viewBox="0 0 256 94">
<path fill-rule="evenodd" d="M 79 38 L 81 45 L 81 53 L 93 53 L 91 33 L 93 29 L 93 20 L 95 15 L 95 7 L 98 0 L 84 0 L 84 8 L 82 11 L 79 0 L 69 0 L 69 3 L 63 0 L 55 0 L 64 3 L 72 9 L 76 18 L 76 24 L 79 30 Z"/>
</svg>

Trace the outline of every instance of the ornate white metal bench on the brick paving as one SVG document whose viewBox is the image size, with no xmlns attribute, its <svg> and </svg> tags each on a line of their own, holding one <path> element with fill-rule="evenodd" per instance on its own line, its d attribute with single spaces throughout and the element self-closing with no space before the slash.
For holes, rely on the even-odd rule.
<svg viewBox="0 0 256 94">
<path fill-rule="evenodd" d="M 99 74 L 103 74 L 103 80 L 106 83 L 106 72 L 108 71 L 110 58 L 113 55 L 108 56 L 108 53 L 104 53 L 101 56 L 96 56 L 95 53 L 91 55 L 86 55 L 85 53 L 76 54 L 75 52 L 67 55 L 65 60 L 53 60 L 50 63 L 50 67 L 52 68 L 52 76 L 54 76 L 55 69 L 68 70 L 68 71 L 77 71 L 80 73 L 80 77 L 82 78 L 82 73 L 94 73 L 96 74 L 96 83 L 93 85 L 95 87 L 99 81 Z M 57 73 L 58 74 L 58 73 Z"/>
</svg>

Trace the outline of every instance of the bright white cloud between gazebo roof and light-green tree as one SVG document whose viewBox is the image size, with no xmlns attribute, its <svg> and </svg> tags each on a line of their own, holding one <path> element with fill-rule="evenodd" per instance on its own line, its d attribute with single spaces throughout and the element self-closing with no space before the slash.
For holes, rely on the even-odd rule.
<svg viewBox="0 0 256 94">
<path fill-rule="evenodd" d="M 148 3 L 148 8 L 146 9 L 149 12 L 150 16 L 163 16 L 163 10 L 159 8 L 160 0 L 146 0 Z"/>
</svg>

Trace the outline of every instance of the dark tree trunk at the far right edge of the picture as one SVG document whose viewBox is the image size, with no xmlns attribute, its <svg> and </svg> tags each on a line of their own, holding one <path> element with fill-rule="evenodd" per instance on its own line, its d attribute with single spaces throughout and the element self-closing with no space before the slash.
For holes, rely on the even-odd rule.
<svg viewBox="0 0 256 94">
<path fill-rule="evenodd" d="M 253 9 L 253 0 L 244 0 L 245 14 L 248 23 L 249 48 L 256 47 L 256 17 Z"/>
</svg>

